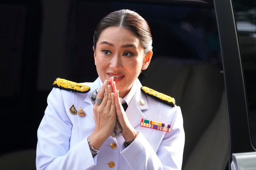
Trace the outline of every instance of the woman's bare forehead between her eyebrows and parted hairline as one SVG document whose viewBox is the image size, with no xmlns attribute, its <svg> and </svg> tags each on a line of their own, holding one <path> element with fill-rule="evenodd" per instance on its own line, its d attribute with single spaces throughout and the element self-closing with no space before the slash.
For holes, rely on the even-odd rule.
<svg viewBox="0 0 256 170">
<path fill-rule="evenodd" d="M 102 41 L 107 41 L 114 45 L 134 44 L 135 46 L 140 45 L 140 39 L 131 30 L 124 27 L 108 27 L 100 34 L 97 44 Z M 142 46 L 141 46 L 142 47 Z"/>
</svg>

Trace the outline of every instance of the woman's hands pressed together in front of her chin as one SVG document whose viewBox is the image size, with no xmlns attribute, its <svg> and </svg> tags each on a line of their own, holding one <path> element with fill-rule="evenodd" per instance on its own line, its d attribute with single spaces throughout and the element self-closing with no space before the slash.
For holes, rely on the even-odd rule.
<svg viewBox="0 0 256 170">
<path fill-rule="evenodd" d="M 126 142 L 131 141 L 137 134 L 136 130 L 129 122 L 124 108 L 119 100 L 119 91 L 116 90 L 116 82 L 113 77 L 105 80 L 97 98 L 102 99 L 101 104 L 95 103 L 93 107 L 93 119 L 95 122 L 95 129 L 90 135 L 90 147 L 99 149 L 105 140 L 113 133 L 116 124 L 116 118 L 123 128 L 121 135 Z"/>
</svg>

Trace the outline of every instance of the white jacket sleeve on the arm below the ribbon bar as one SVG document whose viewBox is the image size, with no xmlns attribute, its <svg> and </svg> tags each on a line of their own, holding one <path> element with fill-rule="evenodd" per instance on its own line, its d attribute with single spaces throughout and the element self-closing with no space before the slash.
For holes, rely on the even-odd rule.
<svg viewBox="0 0 256 170">
<path fill-rule="evenodd" d="M 131 169 L 181 169 L 185 133 L 180 107 L 175 107 L 171 132 L 165 134 L 157 152 L 140 132 L 132 144 L 127 148 L 123 146 L 121 154 Z"/>
</svg>

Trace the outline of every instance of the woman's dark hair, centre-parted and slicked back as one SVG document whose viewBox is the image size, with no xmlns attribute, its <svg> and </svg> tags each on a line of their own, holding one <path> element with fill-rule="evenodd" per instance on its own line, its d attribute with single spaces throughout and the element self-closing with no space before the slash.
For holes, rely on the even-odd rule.
<svg viewBox="0 0 256 170">
<path fill-rule="evenodd" d="M 124 27 L 135 33 L 140 39 L 140 44 L 144 47 L 145 54 L 152 50 L 152 35 L 148 22 L 138 13 L 131 10 L 114 11 L 100 20 L 94 31 L 94 50 L 96 49 L 96 43 L 102 31 L 111 26 Z"/>
</svg>

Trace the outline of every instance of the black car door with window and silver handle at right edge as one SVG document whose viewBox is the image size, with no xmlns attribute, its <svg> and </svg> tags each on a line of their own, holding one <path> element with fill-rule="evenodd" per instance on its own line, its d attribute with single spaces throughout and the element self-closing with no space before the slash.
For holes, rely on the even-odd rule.
<svg viewBox="0 0 256 170">
<path fill-rule="evenodd" d="M 215 0 L 227 91 L 231 169 L 256 169 L 256 4 Z"/>
</svg>

